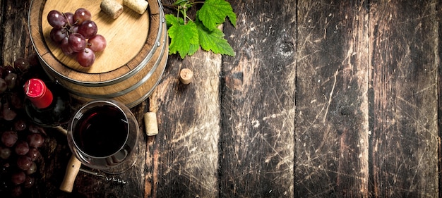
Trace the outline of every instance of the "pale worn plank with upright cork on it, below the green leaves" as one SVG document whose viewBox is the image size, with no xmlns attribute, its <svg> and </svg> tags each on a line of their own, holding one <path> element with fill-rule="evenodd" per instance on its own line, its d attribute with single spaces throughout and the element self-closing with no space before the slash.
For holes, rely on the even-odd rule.
<svg viewBox="0 0 442 198">
<path fill-rule="evenodd" d="M 150 151 L 153 192 L 147 195 L 217 197 L 221 56 L 198 51 L 184 61 L 171 57 L 150 97 L 160 133 Z M 179 82 L 182 68 L 193 70 L 189 85 Z"/>
</svg>

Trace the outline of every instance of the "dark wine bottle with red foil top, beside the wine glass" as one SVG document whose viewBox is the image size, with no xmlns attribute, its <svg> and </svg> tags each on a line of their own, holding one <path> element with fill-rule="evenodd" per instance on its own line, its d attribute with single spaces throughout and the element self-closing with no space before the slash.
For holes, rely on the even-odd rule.
<svg viewBox="0 0 442 198">
<path fill-rule="evenodd" d="M 72 113 L 71 98 L 62 87 L 31 78 L 26 81 L 24 91 L 25 111 L 34 123 L 43 127 L 68 123 Z"/>
</svg>

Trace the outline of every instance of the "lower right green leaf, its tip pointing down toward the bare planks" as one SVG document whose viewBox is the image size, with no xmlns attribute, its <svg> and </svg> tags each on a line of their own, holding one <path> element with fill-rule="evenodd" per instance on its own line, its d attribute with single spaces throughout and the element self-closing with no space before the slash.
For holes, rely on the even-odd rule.
<svg viewBox="0 0 442 198">
<path fill-rule="evenodd" d="M 196 21 L 198 27 L 199 42 L 201 48 L 205 51 L 213 51 L 215 54 L 223 54 L 229 56 L 235 56 L 230 44 L 224 39 L 224 33 L 221 30 L 215 28 L 215 30 L 208 30 L 200 21 Z"/>
</svg>

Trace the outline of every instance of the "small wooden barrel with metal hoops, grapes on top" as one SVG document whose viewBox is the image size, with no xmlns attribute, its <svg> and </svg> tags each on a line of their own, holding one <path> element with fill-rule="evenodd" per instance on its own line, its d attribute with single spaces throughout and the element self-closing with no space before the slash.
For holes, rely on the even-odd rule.
<svg viewBox="0 0 442 198">
<path fill-rule="evenodd" d="M 49 78 L 65 87 L 74 99 L 115 99 L 131 108 L 149 97 L 165 70 L 169 47 L 162 4 L 148 0 L 148 10 L 142 15 L 124 6 L 121 16 L 112 19 L 100 10 L 100 3 L 33 0 L 29 11 L 32 44 Z M 47 13 L 74 13 L 77 8 L 90 11 L 97 34 L 107 39 L 106 49 L 96 54 L 89 68 L 80 66 L 75 56 L 63 54 L 49 37 L 52 27 Z"/>
</svg>

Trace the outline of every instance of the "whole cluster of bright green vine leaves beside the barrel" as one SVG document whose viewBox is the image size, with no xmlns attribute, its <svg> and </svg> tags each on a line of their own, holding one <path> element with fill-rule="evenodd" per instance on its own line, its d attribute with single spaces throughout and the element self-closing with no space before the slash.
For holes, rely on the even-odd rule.
<svg viewBox="0 0 442 198">
<path fill-rule="evenodd" d="M 187 15 L 189 8 L 203 4 L 196 11 L 195 18 Z M 181 58 L 191 56 L 201 47 L 215 54 L 234 56 L 235 52 L 224 38 L 224 33 L 217 27 L 225 23 L 226 18 L 234 27 L 237 15 L 232 6 L 225 0 L 191 1 L 177 0 L 171 5 L 177 15 L 167 14 L 169 30 L 169 54 L 179 54 Z"/>
</svg>

